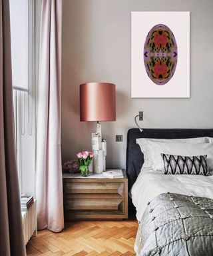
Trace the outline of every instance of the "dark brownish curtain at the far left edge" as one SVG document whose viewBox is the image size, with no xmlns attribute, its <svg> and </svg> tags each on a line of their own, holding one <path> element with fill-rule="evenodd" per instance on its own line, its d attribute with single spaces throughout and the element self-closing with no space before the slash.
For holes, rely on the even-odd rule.
<svg viewBox="0 0 213 256">
<path fill-rule="evenodd" d="M 0 0 L 0 255 L 25 255 L 15 156 L 9 0 Z"/>
</svg>

